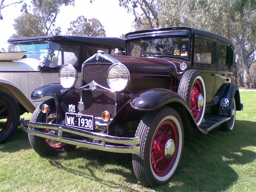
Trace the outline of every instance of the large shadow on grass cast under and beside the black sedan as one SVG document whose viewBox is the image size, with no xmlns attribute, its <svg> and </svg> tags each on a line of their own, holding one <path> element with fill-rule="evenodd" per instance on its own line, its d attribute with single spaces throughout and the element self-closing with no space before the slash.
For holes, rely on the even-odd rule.
<svg viewBox="0 0 256 192">
<path fill-rule="evenodd" d="M 156 191 L 222 191 L 230 188 L 238 180 L 238 175 L 231 164 L 244 165 L 256 159 L 256 153 L 246 149 L 256 146 L 255 122 L 236 121 L 235 130 L 222 132 L 217 127 L 209 134 L 195 133 L 185 135 L 183 156 L 176 174 L 168 184 L 152 188 Z M 65 156 L 48 159 L 53 166 L 73 174 L 81 171 L 70 169 L 61 164 L 61 159 L 81 158 L 91 163 L 78 167 L 87 169 L 94 180 L 106 183 L 98 178 L 90 167 L 101 168 L 105 164 L 117 164 L 130 170 L 124 173 L 122 168 L 110 168 L 105 172 L 122 175 L 126 182 L 136 184 L 129 154 L 116 154 L 104 151 L 77 148 Z M 86 176 L 86 175 L 83 175 Z M 88 175 L 87 175 L 88 176 Z M 118 183 L 112 183 L 115 186 Z M 132 190 L 132 188 L 131 188 Z"/>
</svg>

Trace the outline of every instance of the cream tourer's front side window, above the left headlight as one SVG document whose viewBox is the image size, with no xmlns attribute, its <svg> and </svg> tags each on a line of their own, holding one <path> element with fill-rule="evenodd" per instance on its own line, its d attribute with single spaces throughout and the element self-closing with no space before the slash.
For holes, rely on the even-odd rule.
<svg viewBox="0 0 256 192">
<path fill-rule="evenodd" d="M 55 50 L 51 60 L 50 67 L 60 67 L 63 64 L 70 63 L 73 66 L 78 66 L 80 54 L 80 46 L 60 45 L 59 50 Z"/>
</svg>

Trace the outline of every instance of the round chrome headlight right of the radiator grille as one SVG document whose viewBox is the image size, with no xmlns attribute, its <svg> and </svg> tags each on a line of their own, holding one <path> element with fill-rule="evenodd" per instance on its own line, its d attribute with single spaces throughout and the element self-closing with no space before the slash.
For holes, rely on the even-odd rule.
<svg viewBox="0 0 256 192">
<path fill-rule="evenodd" d="M 108 69 L 108 85 L 113 91 L 122 91 L 128 84 L 130 73 L 121 63 L 113 64 Z"/>
</svg>

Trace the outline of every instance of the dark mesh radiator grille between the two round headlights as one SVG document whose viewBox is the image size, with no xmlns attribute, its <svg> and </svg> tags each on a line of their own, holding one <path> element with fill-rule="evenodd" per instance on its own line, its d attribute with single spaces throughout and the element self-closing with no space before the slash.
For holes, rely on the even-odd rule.
<svg viewBox="0 0 256 192">
<path fill-rule="evenodd" d="M 96 83 L 109 88 L 107 72 L 111 64 L 87 64 L 83 71 L 83 85 L 94 80 Z M 83 114 L 101 117 L 103 111 L 108 111 L 112 117 L 116 115 L 116 93 L 108 92 L 97 87 L 93 91 L 83 91 Z"/>
</svg>

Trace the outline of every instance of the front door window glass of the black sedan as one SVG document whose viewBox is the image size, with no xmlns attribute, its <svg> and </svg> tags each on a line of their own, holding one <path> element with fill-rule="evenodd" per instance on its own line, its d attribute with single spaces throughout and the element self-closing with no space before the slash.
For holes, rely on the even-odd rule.
<svg viewBox="0 0 256 192">
<path fill-rule="evenodd" d="M 194 62 L 213 63 L 214 42 L 195 38 Z"/>
</svg>

